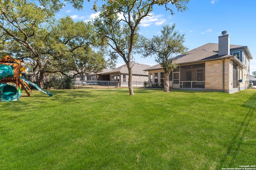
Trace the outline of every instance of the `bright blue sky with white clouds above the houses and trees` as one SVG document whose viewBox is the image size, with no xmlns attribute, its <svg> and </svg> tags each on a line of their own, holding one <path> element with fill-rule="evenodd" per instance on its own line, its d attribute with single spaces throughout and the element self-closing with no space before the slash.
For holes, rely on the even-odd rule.
<svg viewBox="0 0 256 170">
<path fill-rule="evenodd" d="M 70 16 L 73 20 L 91 20 L 97 13 L 92 10 L 93 1 L 84 2 L 83 10 L 66 6 L 58 17 Z M 256 0 L 190 0 L 188 10 L 176 12 L 172 16 L 164 7 L 155 6 L 152 16 L 142 21 L 140 33 L 148 38 L 160 35 L 164 24 L 176 24 L 176 30 L 185 34 L 184 45 L 189 50 L 206 43 L 218 43 L 222 31 L 228 31 L 230 44 L 248 46 L 252 54 L 250 73 L 256 71 Z M 175 9 L 173 7 L 172 9 Z M 151 66 L 157 64 L 154 57 L 143 59 L 134 56 L 135 61 Z M 117 66 L 123 65 L 121 57 Z"/>
</svg>

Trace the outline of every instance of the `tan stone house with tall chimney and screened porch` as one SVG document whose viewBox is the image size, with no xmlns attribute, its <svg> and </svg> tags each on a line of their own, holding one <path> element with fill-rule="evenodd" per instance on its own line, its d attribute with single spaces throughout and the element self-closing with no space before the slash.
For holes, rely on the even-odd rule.
<svg viewBox="0 0 256 170">
<path fill-rule="evenodd" d="M 218 38 L 218 44 L 208 43 L 174 58 L 179 66 L 170 73 L 170 88 L 232 94 L 249 87 L 250 50 L 247 46 L 230 45 L 230 36 L 226 31 L 222 31 L 222 36 Z M 150 84 L 163 81 L 164 70 L 160 64 L 145 70 L 148 71 Z"/>
</svg>

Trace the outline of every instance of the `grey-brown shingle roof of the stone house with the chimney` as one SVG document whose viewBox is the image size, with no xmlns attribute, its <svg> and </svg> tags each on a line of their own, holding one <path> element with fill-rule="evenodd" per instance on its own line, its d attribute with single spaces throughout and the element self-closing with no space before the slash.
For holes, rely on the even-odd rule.
<svg viewBox="0 0 256 170">
<path fill-rule="evenodd" d="M 249 59 L 252 58 L 247 46 L 230 45 L 230 50 L 238 49 L 238 48 L 245 49 Z M 208 43 L 200 47 L 197 47 L 196 49 L 192 49 L 184 55 L 178 55 L 174 57 L 173 61 L 178 64 L 187 64 L 187 63 L 194 63 L 194 62 L 204 61 L 204 60 L 218 60 L 218 59 L 223 59 L 227 57 L 233 57 L 233 56 L 232 55 L 219 56 L 218 44 Z M 162 69 L 162 66 L 160 66 L 160 64 L 156 64 L 146 70 L 148 71 L 148 70 L 156 70 L 156 69 Z"/>
</svg>

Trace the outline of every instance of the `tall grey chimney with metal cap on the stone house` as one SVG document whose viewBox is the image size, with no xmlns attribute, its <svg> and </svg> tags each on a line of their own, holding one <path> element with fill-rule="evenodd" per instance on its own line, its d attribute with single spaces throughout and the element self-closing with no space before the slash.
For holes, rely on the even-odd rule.
<svg viewBox="0 0 256 170">
<path fill-rule="evenodd" d="M 219 37 L 219 54 L 218 55 L 230 55 L 230 44 L 227 31 L 222 31 L 222 36 Z"/>
</svg>

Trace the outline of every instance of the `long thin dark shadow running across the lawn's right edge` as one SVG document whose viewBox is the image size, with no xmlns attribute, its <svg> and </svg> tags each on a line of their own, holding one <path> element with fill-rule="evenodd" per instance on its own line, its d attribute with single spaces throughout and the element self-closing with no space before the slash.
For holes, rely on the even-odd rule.
<svg viewBox="0 0 256 170">
<path fill-rule="evenodd" d="M 241 151 L 241 145 L 244 141 L 244 137 L 246 137 L 246 133 L 248 132 L 248 126 L 250 122 L 253 120 L 253 115 L 256 114 L 256 94 L 254 94 L 249 100 L 247 100 L 242 107 L 246 107 L 247 109 L 249 108 L 248 112 L 244 116 L 244 119 L 236 132 L 236 135 L 234 135 L 234 138 L 232 139 L 226 154 L 220 161 L 220 165 L 217 167 L 217 169 L 221 168 L 235 168 L 236 165 L 236 156 L 239 154 Z M 250 146 L 250 147 L 256 147 Z M 246 153 L 248 154 L 248 153 Z M 239 163 L 239 162 L 238 162 Z M 242 163 L 242 162 L 241 162 Z M 248 164 L 253 164 L 254 162 L 248 162 Z"/>
</svg>

